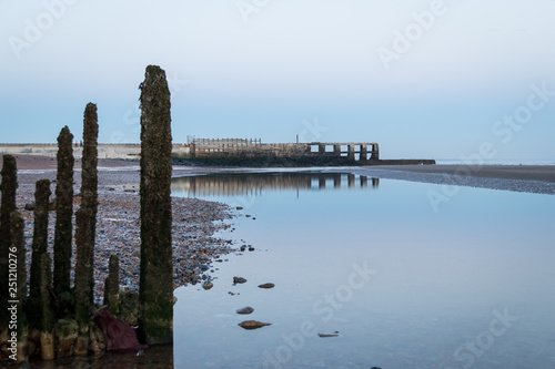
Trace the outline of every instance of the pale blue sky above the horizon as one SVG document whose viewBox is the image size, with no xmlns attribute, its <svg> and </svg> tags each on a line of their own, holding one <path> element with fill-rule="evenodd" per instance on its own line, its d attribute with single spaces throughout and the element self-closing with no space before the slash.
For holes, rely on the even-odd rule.
<svg viewBox="0 0 555 369">
<path fill-rule="evenodd" d="M 88 102 L 100 142 L 139 142 L 158 64 L 174 142 L 555 160 L 554 0 L 3 0 L 0 14 L 0 142 L 80 137 Z"/>
</svg>

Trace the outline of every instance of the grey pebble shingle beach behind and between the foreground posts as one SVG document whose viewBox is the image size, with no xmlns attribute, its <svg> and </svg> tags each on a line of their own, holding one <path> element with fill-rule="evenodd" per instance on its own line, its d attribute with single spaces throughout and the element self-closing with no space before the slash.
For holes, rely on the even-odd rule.
<svg viewBox="0 0 555 369">
<path fill-rule="evenodd" d="M 56 171 L 21 171 L 18 173 L 18 209 L 26 218 L 26 245 L 28 267 L 31 263 L 31 243 L 33 233 L 32 211 L 24 209 L 26 204 L 34 201 L 36 182 L 42 178 L 56 180 Z M 81 173 L 74 172 L 74 192 L 79 193 Z M 108 277 L 110 255 L 120 258 L 120 288 L 122 291 L 139 291 L 140 275 L 140 196 L 124 192 L 122 185 L 139 182 L 138 168 L 99 170 L 99 207 L 97 216 L 97 243 L 94 248 L 94 300 L 101 303 L 104 280 Z M 56 183 L 51 185 L 54 193 Z M 53 196 L 52 196 L 53 198 Z M 80 198 L 75 197 L 73 211 L 79 208 Z M 180 287 L 189 283 L 208 280 L 212 260 L 233 252 L 232 242 L 215 238 L 216 230 L 229 225 L 220 221 L 233 217 L 231 208 L 221 203 L 198 198 L 172 197 L 172 244 L 173 244 L 173 283 Z M 74 217 L 73 217 L 74 221 Z M 53 253 L 56 212 L 49 217 L 49 253 Z M 73 225 L 74 232 L 74 225 Z M 72 253 L 72 279 L 75 264 L 75 248 Z M 29 275 L 29 274 L 28 274 Z M 206 284 L 204 283 L 204 284 Z"/>
</svg>

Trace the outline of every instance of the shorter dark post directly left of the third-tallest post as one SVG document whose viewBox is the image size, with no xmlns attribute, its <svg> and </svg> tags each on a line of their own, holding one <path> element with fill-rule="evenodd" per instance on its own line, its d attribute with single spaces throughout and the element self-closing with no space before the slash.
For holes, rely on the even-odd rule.
<svg viewBox="0 0 555 369">
<path fill-rule="evenodd" d="M 41 260 L 48 248 L 48 211 L 50 202 L 50 181 L 37 181 L 34 189 L 34 232 L 31 256 L 31 277 L 29 283 L 29 326 L 41 329 Z"/>
</svg>

